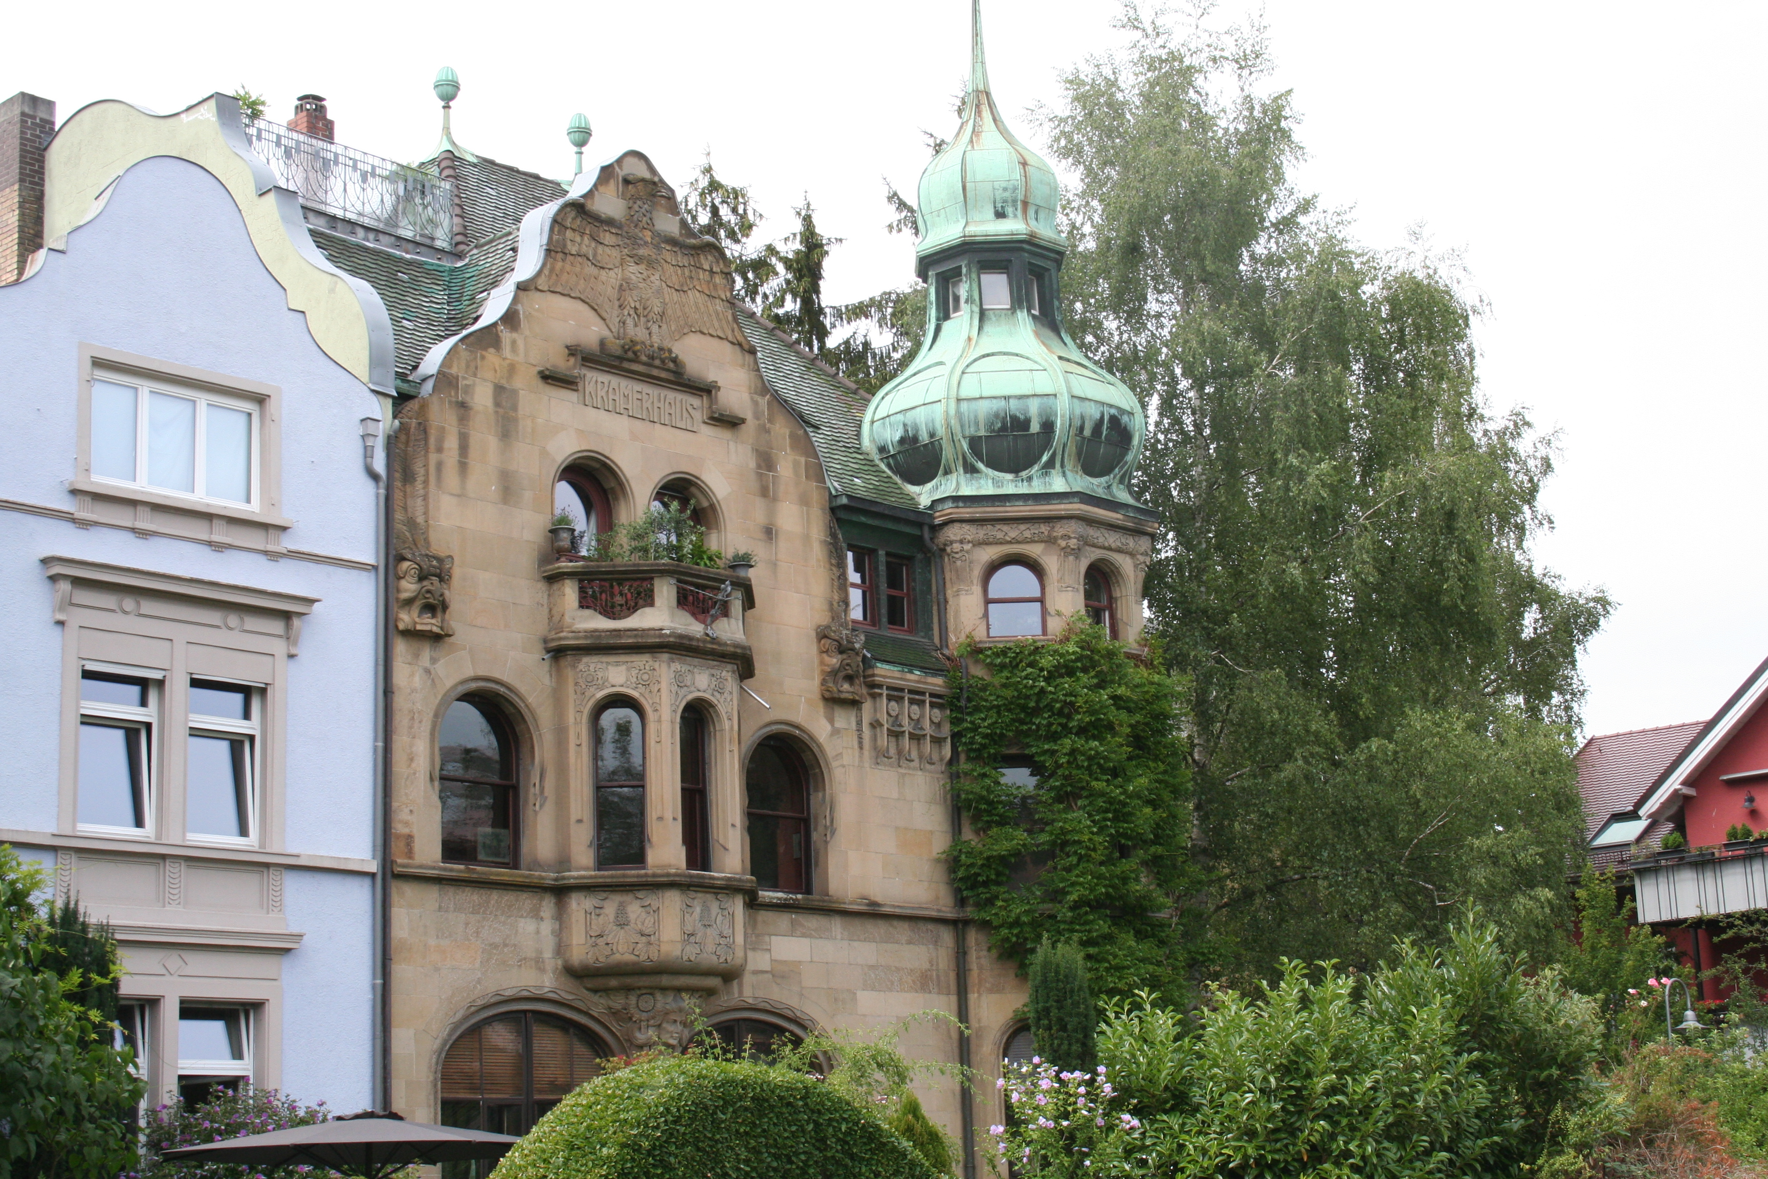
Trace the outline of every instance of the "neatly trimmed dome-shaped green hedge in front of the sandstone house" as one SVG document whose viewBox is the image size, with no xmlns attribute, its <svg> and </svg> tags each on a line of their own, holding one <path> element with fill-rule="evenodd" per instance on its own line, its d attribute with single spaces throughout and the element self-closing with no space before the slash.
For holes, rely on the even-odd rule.
<svg viewBox="0 0 1768 1179">
<path fill-rule="evenodd" d="M 665 1057 L 598 1076 L 492 1179 L 939 1179 L 829 1085 L 764 1064 Z"/>
</svg>

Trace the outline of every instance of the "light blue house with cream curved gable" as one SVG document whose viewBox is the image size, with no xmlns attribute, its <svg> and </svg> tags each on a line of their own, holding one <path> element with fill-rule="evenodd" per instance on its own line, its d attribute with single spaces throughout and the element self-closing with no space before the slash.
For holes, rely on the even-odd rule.
<svg viewBox="0 0 1768 1179">
<path fill-rule="evenodd" d="M 387 313 L 223 95 L 0 104 L 0 841 L 111 923 L 150 1103 L 375 1101 Z"/>
</svg>

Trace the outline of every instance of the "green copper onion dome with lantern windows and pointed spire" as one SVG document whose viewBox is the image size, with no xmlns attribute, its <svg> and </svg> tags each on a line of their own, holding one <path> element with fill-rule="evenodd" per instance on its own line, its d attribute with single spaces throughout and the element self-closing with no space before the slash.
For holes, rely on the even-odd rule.
<svg viewBox="0 0 1768 1179">
<path fill-rule="evenodd" d="M 1055 173 L 1002 126 L 988 92 L 981 0 L 956 138 L 921 175 L 921 352 L 866 408 L 866 451 L 923 506 L 1001 497 L 1140 509 L 1130 474 L 1142 407 L 1063 327 Z"/>
</svg>

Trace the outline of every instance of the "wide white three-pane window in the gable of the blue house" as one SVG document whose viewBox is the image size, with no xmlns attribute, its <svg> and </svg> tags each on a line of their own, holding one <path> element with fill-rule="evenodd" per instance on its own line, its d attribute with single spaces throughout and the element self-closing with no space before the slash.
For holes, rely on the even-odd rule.
<svg viewBox="0 0 1768 1179">
<path fill-rule="evenodd" d="M 260 417 L 253 398 L 94 371 L 92 477 L 253 507 Z"/>
</svg>

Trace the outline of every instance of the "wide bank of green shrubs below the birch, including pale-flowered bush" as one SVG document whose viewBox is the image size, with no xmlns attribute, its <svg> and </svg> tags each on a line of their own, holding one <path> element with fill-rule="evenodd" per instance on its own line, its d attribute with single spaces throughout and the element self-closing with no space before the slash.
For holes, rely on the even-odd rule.
<svg viewBox="0 0 1768 1179">
<path fill-rule="evenodd" d="M 1600 1043 L 1589 1000 L 1467 919 L 1361 979 L 1287 963 L 1197 1020 L 1107 1004 L 1098 1069 L 1011 1073 L 990 1135 L 1024 1175 L 1508 1179 L 1597 1099 Z"/>
</svg>

